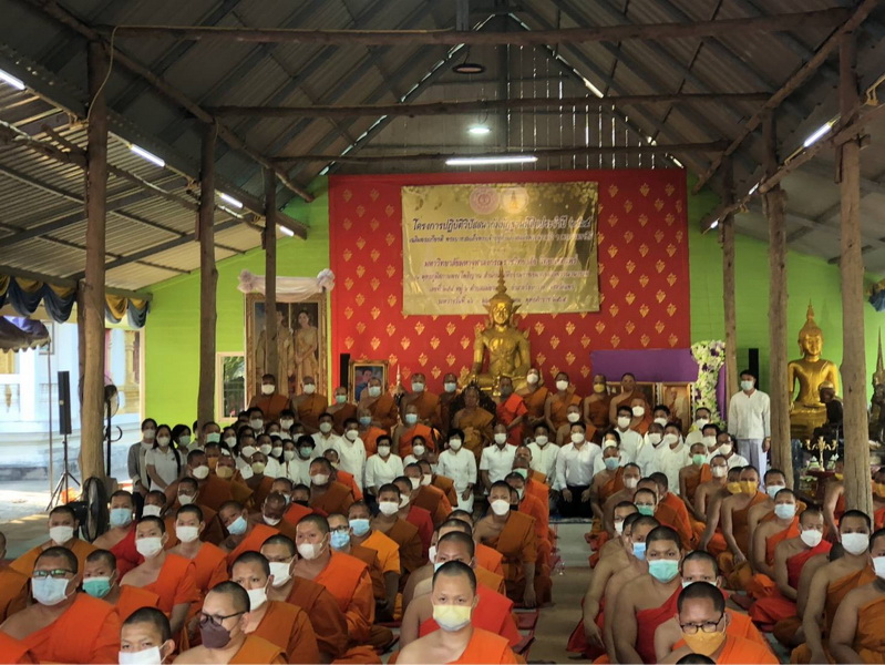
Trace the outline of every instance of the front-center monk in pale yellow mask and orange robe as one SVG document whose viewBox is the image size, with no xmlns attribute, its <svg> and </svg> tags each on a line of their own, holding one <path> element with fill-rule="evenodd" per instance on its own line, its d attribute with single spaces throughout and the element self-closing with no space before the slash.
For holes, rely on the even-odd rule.
<svg viewBox="0 0 885 665">
<path fill-rule="evenodd" d="M 474 627 L 472 616 L 480 602 L 476 576 L 469 565 L 450 561 L 433 574 L 433 621 L 441 630 L 403 647 L 397 659 L 416 663 L 516 663 L 506 637 Z"/>
</svg>

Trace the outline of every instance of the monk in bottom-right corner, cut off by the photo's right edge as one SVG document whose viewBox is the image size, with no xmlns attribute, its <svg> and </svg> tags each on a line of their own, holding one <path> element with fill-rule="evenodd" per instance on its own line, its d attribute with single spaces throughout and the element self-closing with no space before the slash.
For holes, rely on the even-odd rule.
<svg viewBox="0 0 885 665">
<path fill-rule="evenodd" d="M 876 579 L 850 591 L 830 630 L 836 663 L 885 663 L 885 529 L 869 536 L 869 560 Z"/>
</svg>

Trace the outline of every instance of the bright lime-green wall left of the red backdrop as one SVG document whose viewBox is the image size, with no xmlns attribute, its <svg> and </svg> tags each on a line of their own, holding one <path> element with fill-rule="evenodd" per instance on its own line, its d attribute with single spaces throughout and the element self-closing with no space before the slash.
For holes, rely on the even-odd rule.
<svg viewBox="0 0 885 665">
<path fill-rule="evenodd" d="M 329 196 L 327 178 L 318 178 L 307 204 L 290 202 L 284 212 L 309 226 L 308 239 L 285 237 L 277 242 L 280 275 L 316 277 L 329 267 Z M 258 234 L 256 232 L 256 241 Z M 264 275 L 265 255 L 259 247 L 218 262 L 217 351 L 244 351 L 245 298 L 237 290 L 241 270 Z M 163 422 L 192 423 L 196 418 L 199 381 L 199 270 L 151 287 L 154 299 L 145 326 L 145 417 Z"/>
</svg>

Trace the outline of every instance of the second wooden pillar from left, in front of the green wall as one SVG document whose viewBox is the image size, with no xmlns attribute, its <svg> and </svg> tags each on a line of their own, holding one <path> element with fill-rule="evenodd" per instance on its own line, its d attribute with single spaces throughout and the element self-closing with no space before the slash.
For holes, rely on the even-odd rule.
<svg viewBox="0 0 885 665">
<path fill-rule="evenodd" d="M 199 391 L 197 422 L 203 427 L 215 420 L 215 332 L 218 315 L 215 310 L 218 270 L 215 267 L 215 124 L 203 125 L 199 161 L 199 207 L 197 238 L 199 239 Z M 198 437 L 199 432 L 194 432 Z"/>
</svg>

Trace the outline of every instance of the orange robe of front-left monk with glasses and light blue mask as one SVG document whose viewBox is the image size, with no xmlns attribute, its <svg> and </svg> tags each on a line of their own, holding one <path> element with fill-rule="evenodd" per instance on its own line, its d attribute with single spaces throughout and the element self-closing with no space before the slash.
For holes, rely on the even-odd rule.
<svg viewBox="0 0 885 665">
<path fill-rule="evenodd" d="M 21 642 L 40 663 L 116 663 L 120 624 L 113 605 L 78 593 L 59 618 Z"/>
</svg>

